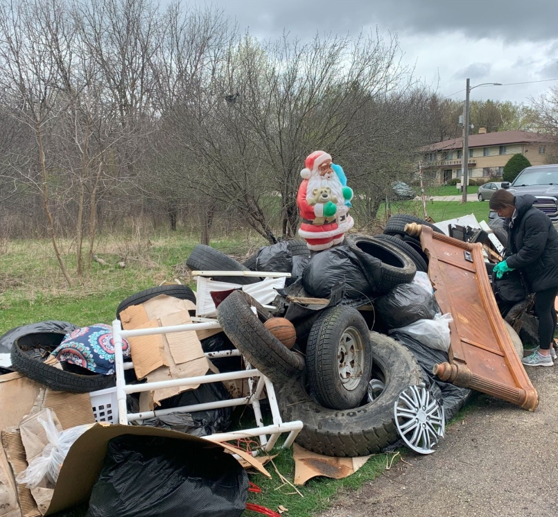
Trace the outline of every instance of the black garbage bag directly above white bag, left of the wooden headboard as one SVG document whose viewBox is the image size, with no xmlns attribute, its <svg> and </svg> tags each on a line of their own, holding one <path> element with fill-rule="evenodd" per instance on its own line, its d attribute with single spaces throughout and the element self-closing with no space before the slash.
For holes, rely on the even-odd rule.
<svg viewBox="0 0 558 517">
<path fill-rule="evenodd" d="M 441 313 L 435 298 L 416 283 L 401 283 L 374 300 L 376 314 L 387 328 L 401 328 Z"/>
</svg>

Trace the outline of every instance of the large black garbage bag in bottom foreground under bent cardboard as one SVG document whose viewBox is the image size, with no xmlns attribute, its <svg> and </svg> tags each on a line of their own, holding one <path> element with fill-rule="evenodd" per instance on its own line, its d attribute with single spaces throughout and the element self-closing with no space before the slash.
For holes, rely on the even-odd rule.
<svg viewBox="0 0 558 517">
<path fill-rule="evenodd" d="M 222 448 L 124 435 L 107 447 L 86 517 L 236 517 L 248 476 Z"/>
</svg>

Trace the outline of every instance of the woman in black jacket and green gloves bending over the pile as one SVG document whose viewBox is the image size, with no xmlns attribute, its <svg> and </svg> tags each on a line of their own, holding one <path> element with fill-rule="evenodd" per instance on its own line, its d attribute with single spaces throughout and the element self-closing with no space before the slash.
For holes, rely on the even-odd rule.
<svg viewBox="0 0 558 517">
<path fill-rule="evenodd" d="M 508 225 L 507 259 L 494 266 L 497 278 L 507 271 L 521 270 L 530 292 L 535 293 L 539 318 L 539 349 L 523 358 L 528 366 L 552 366 L 556 358 L 554 331 L 557 324 L 558 231 L 552 221 L 533 207 L 533 195 L 514 196 L 506 190 L 494 193 L 490 209 L 505 217 Z"/>
</svg>

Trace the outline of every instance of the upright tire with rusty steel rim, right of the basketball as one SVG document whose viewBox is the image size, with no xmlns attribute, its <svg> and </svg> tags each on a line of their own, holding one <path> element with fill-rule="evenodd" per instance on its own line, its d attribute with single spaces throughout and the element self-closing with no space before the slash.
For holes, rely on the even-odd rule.
<svg viewBox="0 0 558 517">
<path fill-rule="evenodd" d="M 340 361 L 346 362 L 350 349 L 360 354 L 352 358 L 356 376 L 341 378 Z M 324 310 L 312 326 L 306 346 L 306 379 L 311 396 L 326 408 L 356 408 L 368 391 L 372 376 L 372 342 L 365 319 L 358 310 L 334 307 Z"/>
</svg>

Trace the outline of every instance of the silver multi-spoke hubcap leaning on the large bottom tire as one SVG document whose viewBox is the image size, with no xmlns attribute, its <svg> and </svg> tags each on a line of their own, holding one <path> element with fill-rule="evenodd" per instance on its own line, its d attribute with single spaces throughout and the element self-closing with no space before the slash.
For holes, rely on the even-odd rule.
<svg viewBox="0 0 558 517">
<path fill-rule="evenodd" d="M 444 408 L 424 384 L 404 389 L 394 404 L 397 431 L 409 448 L 431 454 L 444 437 Z"/>
</svg>

